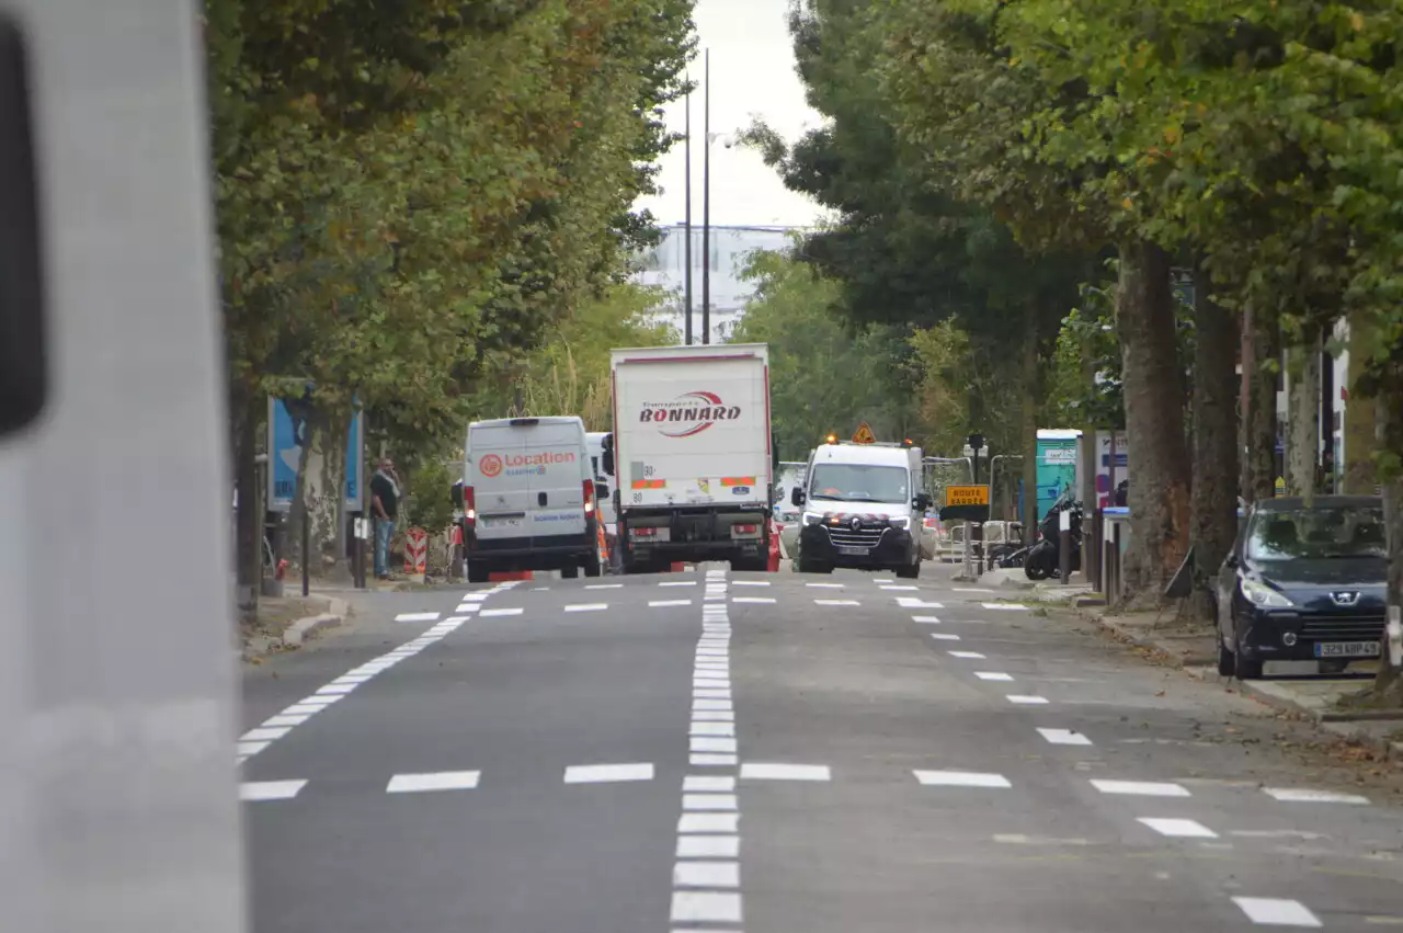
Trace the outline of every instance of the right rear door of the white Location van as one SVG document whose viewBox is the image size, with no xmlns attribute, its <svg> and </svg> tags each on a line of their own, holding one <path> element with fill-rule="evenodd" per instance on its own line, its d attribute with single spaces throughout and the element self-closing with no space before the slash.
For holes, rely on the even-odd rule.
<svg viewBox="0 0 1403 933">
<path fill-rule="evenodd" d="M 523 428 L 523 436 L 532 498 L 529 533 L 532 537 L 584 535 L 584 481 L 592 476 L 584 422 L 542 418 Z"/>
</svg>

